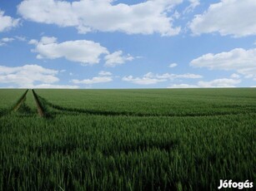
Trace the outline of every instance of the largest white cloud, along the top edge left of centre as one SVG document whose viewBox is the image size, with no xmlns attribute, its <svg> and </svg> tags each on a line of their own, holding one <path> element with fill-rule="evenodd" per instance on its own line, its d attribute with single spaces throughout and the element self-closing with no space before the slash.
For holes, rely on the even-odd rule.
<svg viewBox="0 0 256 191">
<path fill-rule="evenodd" d="M 76 27 L 78 32 L 125 32 L 173 36 L 180 27 L 173 27 L 168 16 L 173 7 L 183 0 L 148 0 L 128 5 L 114 0 L 26 0 L 18 5 L 23 18 L 33 22 Z"/>
</svg>

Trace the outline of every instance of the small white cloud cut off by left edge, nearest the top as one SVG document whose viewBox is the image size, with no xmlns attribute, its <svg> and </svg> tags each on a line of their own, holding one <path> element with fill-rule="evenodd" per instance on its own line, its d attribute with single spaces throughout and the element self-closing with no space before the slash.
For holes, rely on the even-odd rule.
<svg viewBox="0 0 256 191">
<path fill-rule="evenodd" d="M 19 19 L 13 17 L 4 16 L 4 12 L 0 10 L 0 32 L 5 32 L 12 27 L 18 27 Z"/>
</svg>

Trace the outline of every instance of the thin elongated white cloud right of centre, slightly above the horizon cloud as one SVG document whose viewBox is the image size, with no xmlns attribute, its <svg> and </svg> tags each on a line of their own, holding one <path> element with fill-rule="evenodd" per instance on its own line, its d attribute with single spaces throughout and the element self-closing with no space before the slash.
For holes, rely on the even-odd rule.
<svg viewBox="0 0 256 191">
<path fill-rule="evenodd" d="M 152 72 L 148 72 L 142 77 L 133 77 L 133 76 L 124 76 L 123 81 L 128 81 L 132 82 L 133 84 L 138 84 L 138 85 L 153 85 L 157 84 L 159 82 L 163 81 L 168 81 L 168 80 L 174 80 L 174 79 L 181 79 L 181 78 L 187 78 L 187 79 L 197 79 L 197 78 L 202 78 L 200 75 L 195 75 L 195 74 L 169 74 L 165 73 L 163 75 L 158 75 L 158 74 L 153 74 Z"/>
</svg>

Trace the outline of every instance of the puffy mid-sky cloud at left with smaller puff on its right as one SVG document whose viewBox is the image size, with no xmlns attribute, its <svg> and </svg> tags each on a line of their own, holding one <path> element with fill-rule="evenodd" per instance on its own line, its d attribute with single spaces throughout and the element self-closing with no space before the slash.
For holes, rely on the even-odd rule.
<svg viewBox="0 0 256 191">
<path fill-rule="evenodd" d="M 132 61 L 131 55 L 123 56 L 123 51 L 115 51 L 112 54 L 108 52 L 106 47 L 102 47 L 98 42 L 87 40 L 77 40 L 68 42 L 57 42 L 56 37 L 42 37 L 38 42 L 32 39 L 28 44 L 34 45 L 32 50 L 38 52 L 38 59 L 57 59 L 64 57 L 68 61 L 77 61 L 83 65 L 98 64 L 100 56 L 104 57 L 105 66 L 122 65 L 126 61 Z"/>
</svg>

